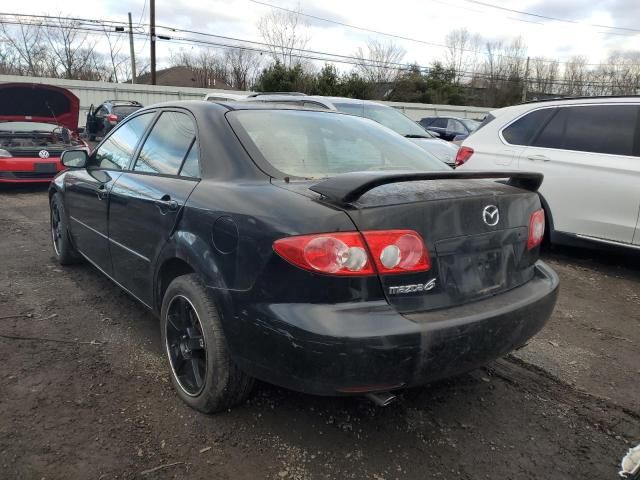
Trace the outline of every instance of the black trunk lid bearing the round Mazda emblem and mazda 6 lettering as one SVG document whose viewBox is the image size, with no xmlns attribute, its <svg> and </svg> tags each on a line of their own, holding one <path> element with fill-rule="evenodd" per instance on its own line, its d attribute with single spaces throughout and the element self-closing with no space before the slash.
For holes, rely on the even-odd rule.
<svg viewBox="0 0 640 480">
<path fill-rule="evenodd" d="M 538 252 L 527 249 L 527 238 L 530 215 L 540 208 L 539 175 L 514 175 L 499 183 L 481 178 L 509 174 L 366 173 L 359 181 L 340 175 L 310 189 L 343 209 L 360 231 L 410 229 L 422 236 L 431 258 L 428 271 L 379 274 L 388 302 L 398 311 L 460 305 L 533 276 Z M 286 188 L 304 188 L 295 183 Z M 487 207 L 497 208 L 497 219 L 487 216 Z"/>
</svg>

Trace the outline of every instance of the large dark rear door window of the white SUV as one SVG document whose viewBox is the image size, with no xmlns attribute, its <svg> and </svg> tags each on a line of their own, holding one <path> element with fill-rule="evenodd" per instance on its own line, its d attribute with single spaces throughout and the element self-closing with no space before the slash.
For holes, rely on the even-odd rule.
<svg viewBox="0 0 640 480">
<path fill-rule="evenodd" d="M 638 156 L 638 105 L 560 108 L 534 142 L 537 147 Z"/>
</svg>

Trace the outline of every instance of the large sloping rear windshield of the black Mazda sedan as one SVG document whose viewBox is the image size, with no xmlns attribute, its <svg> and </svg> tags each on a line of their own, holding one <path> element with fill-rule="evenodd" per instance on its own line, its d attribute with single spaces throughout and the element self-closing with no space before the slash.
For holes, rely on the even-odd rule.
<svg viewBox="0 0 640 480">
<path fill-rule="evenodd" d="M 324 178 L 365 170 L 448 170 L 411 141 L 370 120 L 329 112 L 240 110 L 228 114 L 272 167 L 294 177 Z M 243 135 L 245 133 L 246 135 Z"/>
</svg>

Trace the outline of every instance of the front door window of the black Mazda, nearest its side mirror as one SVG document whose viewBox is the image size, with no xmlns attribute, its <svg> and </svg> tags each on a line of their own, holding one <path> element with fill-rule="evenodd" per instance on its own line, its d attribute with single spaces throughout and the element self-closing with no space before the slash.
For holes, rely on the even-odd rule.
<svg viewBox="0 0 640 480">
<path fill-rule="evenodd" d="M 155 112 L 143 113 L 131 120 L 121 123 L 120 127 L 98 147 L 94 155 L 94 163 L 99 168 L 123 170 L 144 134 Z"/>
</svg>

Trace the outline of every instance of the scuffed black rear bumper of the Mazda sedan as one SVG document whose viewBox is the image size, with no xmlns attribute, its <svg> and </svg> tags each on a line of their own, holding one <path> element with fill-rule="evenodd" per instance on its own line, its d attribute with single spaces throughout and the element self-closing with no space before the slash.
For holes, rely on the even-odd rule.
<svg viewBox="0 0 640 480">
<path fill-rule="evenodd" d="M 382 301 L 253 305 L 225 329 L 248 374 L 307 393 L 353 394 L 422 385 L 505 355 L 544 326 L 557 295 L 557 275 L 538 262 L 525 285 L 460 307 L 401 315 Z"/>
</svg>

